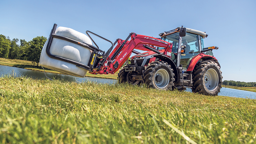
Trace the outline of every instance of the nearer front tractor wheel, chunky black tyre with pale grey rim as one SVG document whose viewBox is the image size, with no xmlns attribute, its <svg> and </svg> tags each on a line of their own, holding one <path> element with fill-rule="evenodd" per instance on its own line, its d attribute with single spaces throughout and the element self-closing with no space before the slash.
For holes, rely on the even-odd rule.
<svg viewBox="0 0 256 144">
<path fill-rule="evenodd" d="M 164 61 L 151 62 L 144 74 L 144 82 L 158 90 L 172 90 L 174 85 L 174 73 L 171 65 Z"/>
</svg>

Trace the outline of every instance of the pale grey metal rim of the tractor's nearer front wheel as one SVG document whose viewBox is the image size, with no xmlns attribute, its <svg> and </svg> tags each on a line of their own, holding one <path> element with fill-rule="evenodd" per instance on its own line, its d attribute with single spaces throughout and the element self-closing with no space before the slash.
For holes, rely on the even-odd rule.
<svg viewBox="0 0 256 144">
<path fill-rule="evenodd" d="M 161 77 L 160 78 L 161 80 L 159 80 L 159 78 L 157 78 L 157 77 Z M 169 80 L 170 80 L 170 77 L 169 77 L 169 73 L 167 72 L 167 70 L 159 69 L 156 71 L 156 74 L 154 76 L 154 82 L 155 82 L 156 87 L 161 88 L 161 89 L 166 88 L 169 84 Z"/>
</svg>

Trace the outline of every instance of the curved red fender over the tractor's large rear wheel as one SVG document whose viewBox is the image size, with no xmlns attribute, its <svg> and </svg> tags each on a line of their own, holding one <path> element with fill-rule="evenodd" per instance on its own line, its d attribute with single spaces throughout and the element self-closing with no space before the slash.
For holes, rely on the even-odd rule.
<svg viewBox="0 0 256 144">
<path fill-rule="evenodd" d="M 211 61 L 214 61 L 218 64 L 218 66 L 220 67 L 220 64 L 218 62 L 218 60 L 213 57 L 213 56 L 209 56 L 209 55 L 206 55 L 206 54 L 203 54 L 203 53 L 200 53 L 198 54 L 197 56 L 195 56 L 189 63 L 189 67 L 187 68 L 187 71 L 193 71 L 197 62 L 202 59 L 202 60 L 211 60 Z"/>
</svg>

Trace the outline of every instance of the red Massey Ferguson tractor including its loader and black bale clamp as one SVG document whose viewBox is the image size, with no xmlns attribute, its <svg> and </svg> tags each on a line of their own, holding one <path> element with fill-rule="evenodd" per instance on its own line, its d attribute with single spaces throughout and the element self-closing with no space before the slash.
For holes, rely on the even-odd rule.
<svg viewBox="0 0 256 144">
<path fill-rule="evenodd" d="M 111 48 L 105 52 L 98 48 L 91 37 L 96 47 L 55 35 L 56 27 L 57 25 L 54 24 L 46 47 L 47 55 L 53 59 L 75 64 L 91 74 L 114 74 L 128 61 L 131 54 L 135 53 L 136 55 L 130 59 L 130 64 L 126 64 L 119 71 L 120 83 L 128 82 L 132 85 L 146 83 L 149 87 L 158 90 L 182 91 L 191 88 L 193 92 L 205 95 L 218 95 L 220 92 L 222 72 L 218 60 L 212 54 L 212 49 L 218 47 L 204 47 L 203 38 L 208 36 L 205 32 L 182 26 L 160 33 L 161 38 L 130 33 L 126 40 L 117 39 L 113 44 L 87 31 L 89 37 L 88 33 L 91 33 L 111 43 Z M 49 47 L 53 37 L 90 49 L 92 53 L 88 65 L 50 54 Z M 140 53 L 135 49 L 146 52 Z"/>
</svg>

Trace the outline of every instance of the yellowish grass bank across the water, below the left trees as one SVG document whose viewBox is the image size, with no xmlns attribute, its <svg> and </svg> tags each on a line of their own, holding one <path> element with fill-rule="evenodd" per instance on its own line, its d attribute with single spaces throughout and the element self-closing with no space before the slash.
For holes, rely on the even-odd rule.
<svg viewBox="0 0 256 144">
<path fill-rule="evenodd" d="M 36 70 L 36 71 L 41 71 L 43 72 L 43 68 L 38 69 L 33 67 L 32 62 L 30 61 L 24 61 L 24 60 L 18 60 L 18 59 L 5 59 L 5 58 L 0 58 L 0 65 L 5 65 L 5 66 L 14 66 L 14 67 L 19 67 L 19 68 L 23 68 L 23 69 L 30 69 L 30 70 Z M 55 73 L 55 74 L 62 74 L 60 72 L 56 72 L 54 70 L 50 70 L 45 68 L 45 72 L 50 72 L 50 73 Z M 108 74 L 108 75 L 94 75 L 94 74 L 90 74 L 87 72 L 86 76 L 87 77 L 96 77 L 96 78 L 109 78 L 109 79 L 117 79 L 117 73 L 115 74 Z"/>
</svg>

